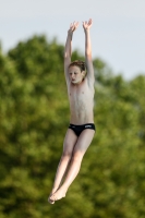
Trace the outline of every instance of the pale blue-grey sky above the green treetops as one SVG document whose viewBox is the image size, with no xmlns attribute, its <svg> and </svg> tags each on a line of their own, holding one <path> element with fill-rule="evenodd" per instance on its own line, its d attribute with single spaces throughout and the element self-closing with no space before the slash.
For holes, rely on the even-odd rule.
<svg viewBox="0 0 145 218">
<path fill-rule="evenodd" d="M 93 19 L 93 58 L 101 58 L 126 80 L 145 74 L 145 0 L 0 0 L 3 51 L 34 34 L 65 43 L 70 23 L 80 22 L 73 48 L 84 52 L 82 21 Z"/>
</svg>

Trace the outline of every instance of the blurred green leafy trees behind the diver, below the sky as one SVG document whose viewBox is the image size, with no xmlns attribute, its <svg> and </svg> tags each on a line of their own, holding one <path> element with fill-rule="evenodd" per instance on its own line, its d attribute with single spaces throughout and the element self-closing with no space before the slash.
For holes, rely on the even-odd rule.
<svg viewBox="0 0 145 218">
<path fill-rule="evenodd" d="M 0 55 L 0 218 L 144 218 L 145 76 L 125 82 L 100 59 L 94 68 L 96 135 L 67 198 L 51 206 L 69 125 L 63 46 L 34 36 Z"/>
</svg>

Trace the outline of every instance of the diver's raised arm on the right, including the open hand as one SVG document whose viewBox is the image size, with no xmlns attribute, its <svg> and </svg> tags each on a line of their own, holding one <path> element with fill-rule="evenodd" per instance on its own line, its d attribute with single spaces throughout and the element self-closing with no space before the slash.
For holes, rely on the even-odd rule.
<svg viewBox="0 0 145 218">
<path fill-rule="evenodd" d="M 90 43 L 90 33 L 89 28 L 93 24 L 92 19 L 88 20 L 88 22 L 83 22 L 83 28 L 85 32 L 85 62 L 87 68 L 87 78 L 89 82 L 95 82 L 94 76 L 94 68 L 93 68 L 93 60 L 92 60 L 92 43 Z"/>
</svg>

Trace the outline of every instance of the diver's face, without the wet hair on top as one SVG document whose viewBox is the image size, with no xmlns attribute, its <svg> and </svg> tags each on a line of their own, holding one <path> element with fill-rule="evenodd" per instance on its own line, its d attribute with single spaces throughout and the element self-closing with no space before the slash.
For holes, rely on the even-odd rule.
<svg viewBox="0 0 145 218">
<path fill-rule="evenodd" d="M 84 78 L 84 71 L 81 72 L 80 68 L 76 65 L 70 66 L 69 76 L 73 84 L 80 84 Z"/>
</svg>

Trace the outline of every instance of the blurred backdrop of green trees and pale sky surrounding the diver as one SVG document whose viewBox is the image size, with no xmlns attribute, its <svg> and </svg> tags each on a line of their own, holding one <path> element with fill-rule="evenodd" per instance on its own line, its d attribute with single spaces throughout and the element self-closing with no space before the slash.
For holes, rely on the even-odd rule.
<svg viewBox="0 0 145 218">
<path fill-rule="evenodd" d="M 145 217 L 145 2 L 0 0 L 0 218 Z M 90 29 L 95 138 L 65 198 L 47 202 L 69 125 L 63 50 Z"/>
</svg>

